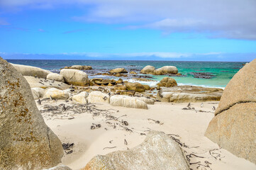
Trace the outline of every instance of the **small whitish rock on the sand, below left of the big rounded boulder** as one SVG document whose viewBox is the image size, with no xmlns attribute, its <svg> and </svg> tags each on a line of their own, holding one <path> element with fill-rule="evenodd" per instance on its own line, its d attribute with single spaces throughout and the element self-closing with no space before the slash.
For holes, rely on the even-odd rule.
<svg viewBox="0 0 256 170">
<path fill-rule="evenodd" d="M 56 88 L 50 88 L 45 91 L 44 98 L 50 98 L 50 96 L 54 99 L 66 100 L 69 98 L 69 94 L 67 91 L 62 91 Z"/>
</svg>

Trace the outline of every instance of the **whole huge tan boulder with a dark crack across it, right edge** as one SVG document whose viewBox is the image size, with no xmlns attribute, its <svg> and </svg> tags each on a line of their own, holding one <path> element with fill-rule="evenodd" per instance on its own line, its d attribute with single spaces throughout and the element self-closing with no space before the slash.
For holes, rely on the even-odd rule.
<svg viewBox="0 0 256 170">
<path fill-rule="evenodd" d="M 256 164 L 256 60 L 235 74 L 223 92 L 206 137 Z"/>
</svg>

